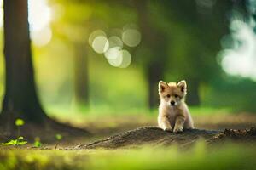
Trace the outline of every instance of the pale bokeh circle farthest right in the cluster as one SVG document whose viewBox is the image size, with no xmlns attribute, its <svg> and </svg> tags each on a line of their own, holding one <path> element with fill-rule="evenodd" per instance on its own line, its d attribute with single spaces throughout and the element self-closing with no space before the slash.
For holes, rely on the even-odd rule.
<svg viewBox="0 0 256 170">
<path fill-rule="evenodd" d="M 136 47 L 141 42 L 141 33 L 136 29 L 127 29 L 123 32 L 122 40 L 129 47 Z"/>
</svg>

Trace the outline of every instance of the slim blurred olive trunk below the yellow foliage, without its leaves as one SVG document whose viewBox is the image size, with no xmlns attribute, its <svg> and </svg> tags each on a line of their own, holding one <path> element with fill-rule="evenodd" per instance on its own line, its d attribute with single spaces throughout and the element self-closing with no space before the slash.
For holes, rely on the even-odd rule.
<svg viewBox="0 0 256 170">
<path fill-rule="evenodd" d="M 88 106 L 89 102 L 89 77 L 86 44 L 74 42 L 74 98 L 78 105 Z"/>
</svg>

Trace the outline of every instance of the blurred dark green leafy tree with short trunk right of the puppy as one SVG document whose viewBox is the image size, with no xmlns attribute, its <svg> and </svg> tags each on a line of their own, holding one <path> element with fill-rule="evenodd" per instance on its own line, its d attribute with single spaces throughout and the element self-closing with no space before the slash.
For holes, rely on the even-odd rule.
<svg viewBox="0 0 256 170">
<path fill-rule="evenodd" d="M 175 57 L 170 60 L 179 65 L 173 65 L 170 72 L 187 80 L 189 105 L 200 105 L 201 84 L 216 80 L 222 71 L 216 55 L 221 48 L 219 40 L 228 31 L 226 15 L 232 6 L 230 1 L 198 3 L 164 1 L 160 10 L 163 20 L 170 23 L 169 29 L 175 32 L 172 45 L 179 46 L 173 48 Z"/>
</svg>

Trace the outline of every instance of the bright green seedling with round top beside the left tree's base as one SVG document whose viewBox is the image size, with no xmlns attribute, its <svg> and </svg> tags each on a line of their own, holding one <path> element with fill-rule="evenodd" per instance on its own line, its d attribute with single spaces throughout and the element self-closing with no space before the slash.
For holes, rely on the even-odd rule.
<svg viewBox="0 0 256 170">
<path fill-rule="evenodd" d="M 22 119 L 16 119 L 15 125 L 16 125 L 16 127 L 18 127 L 17 139 L 10 139 L 8 142 L 2 143 L 2 144 L 3 145 L 15 145 L 15 146 L 26 144 L 27 141 L 24 140 L 23 136 L 20 136 L 20 126 L 23 126 L 24 124 L 25 124 L 25 122 Z"/>
</svg>

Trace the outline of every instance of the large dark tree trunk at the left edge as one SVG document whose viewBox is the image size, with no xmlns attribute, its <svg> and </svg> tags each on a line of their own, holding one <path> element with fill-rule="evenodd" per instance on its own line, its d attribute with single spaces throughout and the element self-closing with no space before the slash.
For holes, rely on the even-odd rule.
<svg viewBox="0 0 256 170">
<path fill-rule="evenodd" d="M 4 0 L 5 94 L 1 122 L 20 117 L 44 122 L 48 117 L 39 103 L 32 67 L 26 0 Z"/>
</svg>

